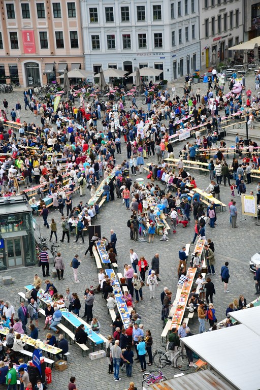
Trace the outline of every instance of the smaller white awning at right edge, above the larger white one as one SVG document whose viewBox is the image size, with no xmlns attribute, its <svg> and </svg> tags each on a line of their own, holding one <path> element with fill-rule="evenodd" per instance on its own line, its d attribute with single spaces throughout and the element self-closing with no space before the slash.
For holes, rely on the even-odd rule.
<svg viewBox="0 0 260 390">
<path fill-rule="evenodd" d="M 230 316 L 260 336 L 260 306 L 232 311 Z"/>
</svg>

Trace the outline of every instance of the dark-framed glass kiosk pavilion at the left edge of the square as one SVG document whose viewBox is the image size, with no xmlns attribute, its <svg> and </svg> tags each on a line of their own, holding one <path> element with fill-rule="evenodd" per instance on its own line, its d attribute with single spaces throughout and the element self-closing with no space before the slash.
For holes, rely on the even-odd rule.
<svg viewBox="0 0 260 390">
<path fill-rule="evenodd" d="M 0 199 L 0 270 L 36 264 L 31 208 L 22 196 Z"/>
</svg>

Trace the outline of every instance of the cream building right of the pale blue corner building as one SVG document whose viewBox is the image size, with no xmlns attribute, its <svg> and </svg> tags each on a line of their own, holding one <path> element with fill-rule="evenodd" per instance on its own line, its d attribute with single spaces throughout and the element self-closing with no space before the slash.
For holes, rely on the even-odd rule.
<svg viewBox="0 0 260 390">
<path fill-rule="evenodd" d="M 224 62 L 226 46 L 243 41 L 243 0 L 200 0 L 201 67 L 208 68 L 212 52 Z M 229 56 L 232 57 L 232 50 Z"/>
</svg>

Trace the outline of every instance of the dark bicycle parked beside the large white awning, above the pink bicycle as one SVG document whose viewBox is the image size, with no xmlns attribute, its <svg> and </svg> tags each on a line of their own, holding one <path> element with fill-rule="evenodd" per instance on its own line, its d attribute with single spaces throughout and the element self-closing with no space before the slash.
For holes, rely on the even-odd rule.
<svg viewBox="0 0 260 390">
<path fill-rule="evenodd" d="M 188 357 L 181 354 L 178 348 L 176 351 L 171 351 L 167 349 L 167 345 L 162 345 L 162 347 L 165 348 L 165 352 L 158 349 L 153 354 L 153 363 L 156 367 L 164 368 L 165 366 L 171 366 L 174 362 L 174 366 L 180 371 L 186 371 L 189 368 Z"/>
</svg>

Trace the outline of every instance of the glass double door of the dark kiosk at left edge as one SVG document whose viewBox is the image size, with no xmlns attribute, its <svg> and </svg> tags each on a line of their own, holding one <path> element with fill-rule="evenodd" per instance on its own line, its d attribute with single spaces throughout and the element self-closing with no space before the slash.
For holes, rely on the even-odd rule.
<svg viewBox="0 0 260 390">
<path fill-rule="evenodd" d="M 24 265 L 22 237 L 5 239 L 7 268 Z"/>
</svg>

